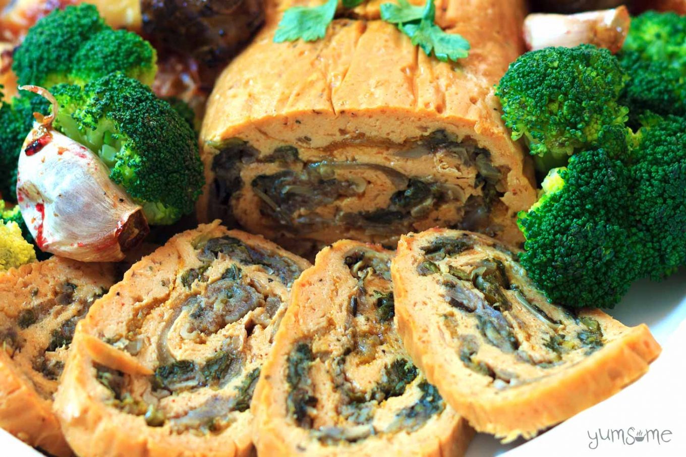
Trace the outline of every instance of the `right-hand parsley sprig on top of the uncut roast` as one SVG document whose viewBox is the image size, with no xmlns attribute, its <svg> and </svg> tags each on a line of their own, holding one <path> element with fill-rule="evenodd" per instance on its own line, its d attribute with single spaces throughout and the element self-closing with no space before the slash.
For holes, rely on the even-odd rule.
<svg viewBox="0 0 686 457">
<path fill-rule="evenodd" d="M 469 56 L 469 41 L 458 34 L 447 34 L 434 23 L 436 7 L 433 0 L 427 0 L 424 8 L 410 5 L 407 0 L 398 4 L 383 3 L 381 19 L 398 24 L 403 34 L 410 37 L 412 44 L 421 47 L 427 56 L 434 56 L 442 62 L 456 61 Z"/>
</svg>

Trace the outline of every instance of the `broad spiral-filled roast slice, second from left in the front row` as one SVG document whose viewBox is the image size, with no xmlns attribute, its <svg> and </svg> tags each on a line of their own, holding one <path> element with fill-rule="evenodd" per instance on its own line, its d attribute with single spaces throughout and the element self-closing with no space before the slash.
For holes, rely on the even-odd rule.
<svg viewBox="0 0 686 457">
<path fill-rule="evenodd" d="M 74 451 L 251 455 L 252 390 L 308 266 L 218 221 L 134 264 L 74 336 L 55 402 Z"/>
</svg>

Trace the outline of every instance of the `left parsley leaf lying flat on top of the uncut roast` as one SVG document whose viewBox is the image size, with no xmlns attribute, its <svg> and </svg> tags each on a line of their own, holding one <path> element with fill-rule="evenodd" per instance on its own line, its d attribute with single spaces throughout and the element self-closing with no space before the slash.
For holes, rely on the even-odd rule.
<svg viewBox="0 0 686 457">
<path fill-rule="evenodd" d="M 284 41 L 316 41 L 324 38 L 336 13 L 338 0 L 328 0 L 320 6 L 294 6 L 283 13 L 274 33 L 274 43 Z"/>
</svg>

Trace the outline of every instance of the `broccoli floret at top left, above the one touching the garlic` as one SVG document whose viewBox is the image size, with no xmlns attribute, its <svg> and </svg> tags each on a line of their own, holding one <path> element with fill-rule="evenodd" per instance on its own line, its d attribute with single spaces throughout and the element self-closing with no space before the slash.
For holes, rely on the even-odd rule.
<svg viewBox="0 0 686 457">
<path fill-rule="evenodd" d="M 12 70 L 19 84 L 50 88 L 85 84 L 122 71 L 152 84 L 157 71 L 154 48 L 137 34 L 112 30 L 93 5 L 54 10 L 31 27 L 14 51 Z"/>
</svg>

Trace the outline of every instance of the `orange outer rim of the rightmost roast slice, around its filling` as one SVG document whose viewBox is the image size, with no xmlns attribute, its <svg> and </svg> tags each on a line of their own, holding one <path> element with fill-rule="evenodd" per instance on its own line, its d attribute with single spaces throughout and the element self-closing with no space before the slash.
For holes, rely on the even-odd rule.
<svg viewBox="0 0 686 457">
<path fill-rule="evenodd" d="M 493 379 L 473 373 L 460 359 L 460 340 L 451 332 L 464 336 L 470 331 L 469 327 L 463 325 L 451 329 L 445 323 L 446 316 L 458 316 L 458 312 L 452 314 L 451 307 L 442 298 L 445 292 L 438 288 L 435 278 L 417 274 L 418 262 L 423 258 L 421 246 L 427 246 L 436 237 L 460 237 L 463 233 L 434 229 L 403 237 L 392 265 L 392 276 L 399 333 L 407 351 L 416 364 L 421 366 L 427 379 L 436 384 L 451 406 L 466 417 L 477 431 L 495 434 L 504 441 L 511 441 L 517 436 L 535 436 L 545 427 L 563 421 L 631 384 L 648 371 L 648 364 L 659 355 L 659 344 L 646 325 L 625 327 L 599 309 L 584 309 L 579 312 L 579 317 L 591 318 L 600 323 L 603 337 L 601 347 L 593 349 L 590 355 L 581 350 L 563 353 L 562 364 L 543 368 L 543 375 L 539 373 L 539 377 L 525 380 L 518 385 L 513 383 L 504 389 L 495 388 Z M 492 239 L 477 234 L 469 236 L 479 246 L 485 246 L 484 257 L 490 255 L 498 258 L 499 251 L 490 250 L 494 245 Z M 463 266 L 460 256 L 473 256 L 473 252 L 465 251 L 455 257 L 457 260 L 451 259 L 449 263 Z M 506 257 L 503 254 L 500 258 Z M 508 270 L 510 274 L 514 274 L 512 271 L 514 270 Z M 445 274 L 443 277 L 445 278 Z M 536 296 L 532 292 L 530 281 L 521 276 L 517 278 L 519 283 L 524 284 L 521 287 L 527 291 L 527 298 L 541 298 L 541 301 L 535 303 L 551 314 L 554 305 L 543 305 L 542 303 L 547 303 L 545 297 L 542 294 Z M 504 314 L 507 314 L 508 320 L 510 316 L 516 315 Z M 519 318 L 517 325 L 525 328 L 526 325 L 521 322 L 521 314 Z M 573 324 L 567 324 L 568 327 L 571 325 Z M 539 328 L 544 333 L 545 325 Z M 567 337 L 567 340 L 571 339 L 569 335 Z M 531 342 L 535 338 L 538 336 L 532 337 Z M 525 343 L 522 343 L 522 347 L 525 347 Z M 516 374 L 517 369 L 521 368 L 517 364 L 496 366 L 498 360 L 512 359 L 506 359 L 504 355 L 493 355 L 493 348 L 489 349 L 490 355 L 482 356 L 482 360 L 493 364 L 491 366 L 495 369 Z M 526 347 L 527 351 L 534 349 L 543 348 Z M 533 371 L 534 367 L 530 369 Z M 526 372 L 528 368 L 521 370 Z"/>
</svg>

